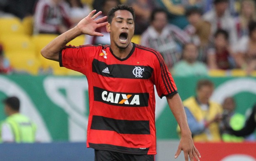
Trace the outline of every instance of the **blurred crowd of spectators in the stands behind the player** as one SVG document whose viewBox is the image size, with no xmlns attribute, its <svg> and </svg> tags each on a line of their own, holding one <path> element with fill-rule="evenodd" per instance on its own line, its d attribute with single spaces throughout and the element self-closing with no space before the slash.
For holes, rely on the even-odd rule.
<svg viewBox="0 0 256 161">
<path fill-rule="evenodd" d="M 0 19 L 30 16 L 33 35 L 61 34 L 92 9 L 103 17 L 121 3 L 135 10 L 138 43 L 159 51 L 173 75 L 232 69 L 252 75 L 256 70 L 255 0 L 0 0 Z M 85 36 L 83 44 L 110 43 L 105 27 L 97 32 L 104 37 Z M 1 46 L 0 72 L 9 73 L 4 51 Z"/>
</svg>

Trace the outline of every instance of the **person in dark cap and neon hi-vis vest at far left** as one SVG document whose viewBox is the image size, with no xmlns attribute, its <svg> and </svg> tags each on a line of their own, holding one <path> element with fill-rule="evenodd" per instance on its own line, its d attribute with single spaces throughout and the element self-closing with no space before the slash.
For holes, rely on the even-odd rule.
<svg viewBox="0 0 256 161">
<path fill-rule="evenodd" d="M 32 143 L 36 136 L 36 125 L 19 113 L 20 102 L 17 97 L 7 97 L 3 100 L 5 114 L 8 116 L 1 124 L 0 140 L 2 142 Z"/>
</svg>

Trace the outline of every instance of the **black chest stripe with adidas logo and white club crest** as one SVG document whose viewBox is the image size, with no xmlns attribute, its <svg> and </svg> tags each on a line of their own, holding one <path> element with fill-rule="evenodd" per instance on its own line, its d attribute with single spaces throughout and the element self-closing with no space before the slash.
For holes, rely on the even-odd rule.
<svg viewBox="0 0 256 161">
<path fill-rule="evenodd" d="M 104 71 L 106 68 L 109 70 L 107 73 Z M 152 76 L 152 71 L 153 69 L 150 66 L 140 66 L 139 64 L 136 66 L 124 64 L 108 65 L 97 59 L 92 61 L 92 72 L 106 77 L 149 79 Z"/>
</svg>

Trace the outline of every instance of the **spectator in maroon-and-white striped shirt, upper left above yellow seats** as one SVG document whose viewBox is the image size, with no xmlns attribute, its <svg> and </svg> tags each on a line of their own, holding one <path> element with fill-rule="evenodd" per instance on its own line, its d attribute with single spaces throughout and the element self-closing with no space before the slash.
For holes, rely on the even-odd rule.
<svg viewBox="0 0 256 161">
<path fill-rule="evenodd" d="M 34 33 L 64 33 L 72 25 L 68 13 L 68 5 L 63 0 L 39 0 L 34 15 Z"/>
</svg>

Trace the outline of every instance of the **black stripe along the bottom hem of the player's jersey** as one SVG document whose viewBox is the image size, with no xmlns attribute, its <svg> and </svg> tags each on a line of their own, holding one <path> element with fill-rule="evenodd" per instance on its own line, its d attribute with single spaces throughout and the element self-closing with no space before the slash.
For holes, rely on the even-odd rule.
<svg viewBox="0 0 256 161">
<path fill-rule="evenodd" d="M 119 152 L 125 154 L 137 154 L 137 155 L 146 155 L 149 151 L 149 148 L 130 148 L 130 147 L 122 147 L 111 144 L 94 144 L 89 142 L 90 148 L 96 150 L 107 150 L 111 152 Z"/>
</svg>

